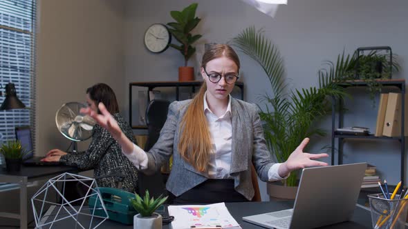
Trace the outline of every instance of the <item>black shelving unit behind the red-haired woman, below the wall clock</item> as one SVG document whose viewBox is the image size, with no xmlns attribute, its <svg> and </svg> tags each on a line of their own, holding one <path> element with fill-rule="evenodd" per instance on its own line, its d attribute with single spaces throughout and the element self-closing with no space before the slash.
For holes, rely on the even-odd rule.
<svg viewBox="0 0 408 229">
<path fill-rule="evenodd" d="M 178 101 L 180 87 L 191 87 L 192 92 L 196 92 L 196 87 L 200 87 L 203 81 L 158 81 L 158 82 L 133 82 L 129 83 L 129 124 L 132 125 L 132 88 L 135 86 L 147 88 L 147 99 L 149 98 L 149 92 L 154 88 L 176 88 L 176 101 Z M 241 99 L 243 100 L 243 83 L 237 81 L 235 86 L 241 90 Z M 131 126 L 133 129 L 147 129 L 147 126 Z"/>
</svg>

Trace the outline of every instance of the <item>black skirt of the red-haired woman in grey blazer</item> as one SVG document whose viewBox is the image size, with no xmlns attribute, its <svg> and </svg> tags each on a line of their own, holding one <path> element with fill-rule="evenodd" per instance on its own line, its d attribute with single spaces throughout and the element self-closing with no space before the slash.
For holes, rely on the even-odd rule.
<svg viewBox="0 0 408 229">
<path fill-rule="evenodd" d="M 248 201 L 234 189 L 233 179 L 207 179 L 198 186 L 174 197 L 177 204 L 219 203 Z"/>
</svg>

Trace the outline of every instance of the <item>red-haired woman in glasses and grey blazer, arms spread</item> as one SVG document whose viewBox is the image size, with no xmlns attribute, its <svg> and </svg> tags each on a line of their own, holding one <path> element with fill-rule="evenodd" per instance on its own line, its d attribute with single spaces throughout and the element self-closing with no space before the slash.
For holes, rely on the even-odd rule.
<svg viewBox="0 0 408 229">
<path fill-rule="evenodd" d="M 227 45 L 214 45 L 203 55 L 201 90 L 194 99 L 174 101 L 169 106 L 160 138 L 149 150 L 131 143 L 109 112 L 86 112 L 111 132 L 122 152 L 138 170 L 151 173 L 173 155 L 166 188 L 175 203 L 249 201 L 254 196 L 251 163 L 262 181 L 285 179 L 307 166 L 326 166 L 314 161 L 326 154 L 311 155 L 304 139 L 288 161 L 275 163 L 263 138 L 257 106 L 230 96 L 239 78 L 239 58 Z"/>
</svg>

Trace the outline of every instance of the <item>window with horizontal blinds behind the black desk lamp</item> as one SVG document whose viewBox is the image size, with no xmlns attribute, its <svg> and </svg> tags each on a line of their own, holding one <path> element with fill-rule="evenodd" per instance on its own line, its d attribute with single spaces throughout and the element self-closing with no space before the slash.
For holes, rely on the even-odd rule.
<svg viewBox="0 0 408 229">
<path fill-rule="evenodd" d="M 4 100 L 6 84 L 14 83 L 17 97 L 28 108 L 0 110 L 1 143 L 15 139 L 16 126 L 35 128 L 36 2 L 0 1 L 0 83 L 3 87 L 0 101 Z"/>
</svg>

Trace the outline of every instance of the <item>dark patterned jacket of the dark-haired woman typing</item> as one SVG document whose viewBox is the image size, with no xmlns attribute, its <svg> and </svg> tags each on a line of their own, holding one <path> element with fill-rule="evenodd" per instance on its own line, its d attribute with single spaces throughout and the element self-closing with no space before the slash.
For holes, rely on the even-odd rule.
<svg viewBox="0 0 408 229">
<path fill-rule="evenodd" d="M 131 127 L 122 116 L 116 113 L 113 117 L 118 121 L 124 134 L 136 143 Z M 93 127 L 92 141 L 88 150 L 68 153 L 59 161 L 67 166 L 76 166 L 84 170 L 94 169 L 93 176 L 99 187 L 118 188 L 118 184 L 122 183 L 123 190 L 138 192 L 136 167 L 122 154 L 118 141 L 98 124 Z"/>
</svg>

